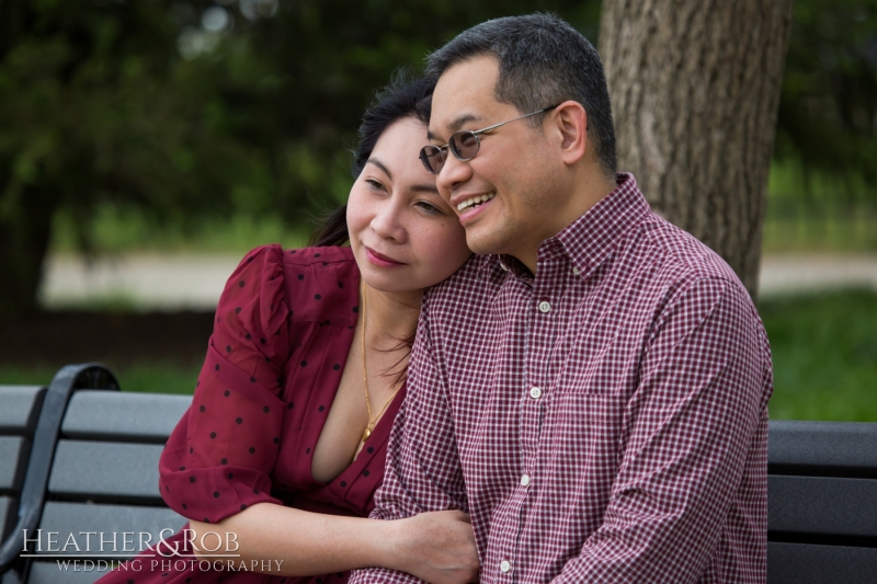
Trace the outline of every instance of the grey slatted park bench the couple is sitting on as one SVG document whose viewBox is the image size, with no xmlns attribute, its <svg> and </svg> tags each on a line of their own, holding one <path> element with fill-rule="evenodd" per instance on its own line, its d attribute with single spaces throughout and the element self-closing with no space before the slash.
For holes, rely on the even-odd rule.
<svg viewBox="0 0 877 584">
<path fill-rule="evenodd" d="M 158 459 L 191 398 L 116 389 L 112 374 L 96 365 L 61 369 L 42 410 L 39 388 L 23 392 L 0 386 L 3 403 L 7 396 L 32 396 L 31 410 L 25 404 L 21 411 L 39 412 L 35 432 L 27 430 L 32 421 L 10 431 L 0 408 L 0 433 L 34 436 L 24 478 L 22 463 L 8 463 L 1 449 L 7 447 L 0 446 L 0 478 L 16 477 L 0 481 L 0 497 L 5 497 L 0 502 L 14 506 L 21 493 L 18 529 L 43 529 L 38 541 L 30 538 L 26 551 L 21 531 L 3 533 L 2 584 L 90 584 L 105 573 L 100 568 L 106 562 L 134 553 L 109 553 L 109 546 L 95 551 L 95 536 L 86 551 L 80 533 L 103 533 L 104 540 L 113 533 L 147 533 L 155 542 L 161 529 L 176 530 L 185 522 L 161 500 Z M 16 415 L 31 420 L 27 415 L 35 414 Z M 877 423 L 774 421 L 770 433 L 767 582 L 877 583 Z M 27 456 L 26 448 L 9 448 L 19 460 Z M 68 546 L 70 558 L 53 557 L 47 533 L 58 534 L 56 549 L 72 534 L 80 551 Z M 59 568 L 59 561 L 68 568 Z"/>
</svg>

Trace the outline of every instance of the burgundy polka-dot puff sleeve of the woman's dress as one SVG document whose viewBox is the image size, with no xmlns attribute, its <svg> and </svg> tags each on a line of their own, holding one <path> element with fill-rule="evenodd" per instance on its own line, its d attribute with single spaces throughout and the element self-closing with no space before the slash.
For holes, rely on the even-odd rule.
<svg viewBox="0 0 877 584">
<path fill-rule="evenodd" d="M 226 283 L 192 405 L 159 461 L 159 489 L 176 513 L 216 523 L 271 496 L 283 431 L 289 309 L 283 250 L 258 248 Z"/>
</svg>

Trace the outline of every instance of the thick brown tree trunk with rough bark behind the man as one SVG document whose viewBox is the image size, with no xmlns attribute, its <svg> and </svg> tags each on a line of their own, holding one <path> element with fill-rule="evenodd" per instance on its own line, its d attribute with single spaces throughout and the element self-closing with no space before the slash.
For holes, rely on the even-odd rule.
<svg viewBox="0 0 877 584">
<path fill-rule="evenodd" d="M 793 0 L 603 0 L 618 169 L 755 298 Z"/>
</svg>

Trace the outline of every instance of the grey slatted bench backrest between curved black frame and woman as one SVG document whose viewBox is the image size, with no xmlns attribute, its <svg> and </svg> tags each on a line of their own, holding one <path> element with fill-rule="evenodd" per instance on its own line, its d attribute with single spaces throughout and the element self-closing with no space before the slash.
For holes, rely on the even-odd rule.
<svg viewBox="0 0 877 584">
<path fill-rule="evenodd" d="M 91 583 L 104 575 L 100 568 L 106 568 L 105 562 L 94 561 L 130 558 L 141 537 L 155 542 L 162 530 L 169 537 L 183 526 L 185 518 L 169 509 L 159 494 L 158 460 L 191 403 L 190 396 L 73 393 L 39 523 L 41 558 L 31 565 L 29 584 Z M 54 547 L 48 545 L 50 533 L 59 534 Z M 87 533 L 98 535 L 89 539 Z M 67 540 L 71 534 L 72 540 Z M 60 550 L 65 542 L 68 546 Z M 69 556 L 66 570 L 56 558 L 61 551 Z M 77 559 L 92 563 L 76 563 Z"/>
</svg>

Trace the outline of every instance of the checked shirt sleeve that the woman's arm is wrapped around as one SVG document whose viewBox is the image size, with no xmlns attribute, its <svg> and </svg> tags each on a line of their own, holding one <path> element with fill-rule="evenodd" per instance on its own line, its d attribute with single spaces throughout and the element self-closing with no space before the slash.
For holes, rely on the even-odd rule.
<svg viewBox="0 0 877 584">
<path fill-rule="evenodd" d="M 447 383 L 435 365 L 424 302 L 408 365 L 408 393 L 387 444 L 384 483 L 373 519 L 401 519 L 431 511 L 469 512 L 457 454 Z M 354 571 L 350 584 L 420 583 L 410 574 L 373 568 Z"/>
</svg>

